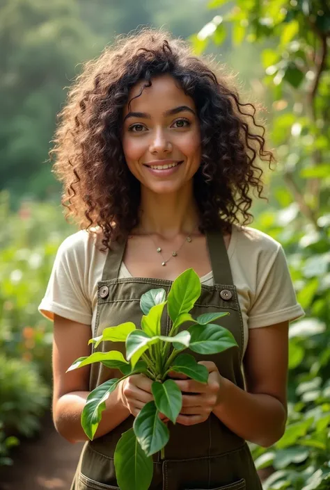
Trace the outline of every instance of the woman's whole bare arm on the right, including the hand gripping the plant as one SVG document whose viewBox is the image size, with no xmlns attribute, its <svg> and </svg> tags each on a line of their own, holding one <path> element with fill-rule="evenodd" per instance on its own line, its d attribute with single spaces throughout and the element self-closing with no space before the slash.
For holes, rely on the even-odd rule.
<svg viewBox="0 0 330 490">
<path fill-rule="evenodd" d="M 202 361 L 210 372 L 205 386 L 187 379 L 176 381 L 184 392 L 177 422 L 193 425 L 210 411 L 235 434 L 260 446 L 281 439 L 287 417 L 288 322 L 251 329 L 244 357 L 246 391 L 221 376 L 214 363 Z"/>
</svg>

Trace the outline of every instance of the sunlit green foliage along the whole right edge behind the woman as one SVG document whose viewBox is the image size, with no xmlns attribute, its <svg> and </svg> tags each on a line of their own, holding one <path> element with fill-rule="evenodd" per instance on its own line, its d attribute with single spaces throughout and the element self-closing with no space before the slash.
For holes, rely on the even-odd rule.
<svg viewBox="0 0 330 490">
<path fill-rule="evenodd" d="M 231 36 L 262 42 L 262 84 L 272 98 L 278 172 L 254 226 L 285 247 L 306 317 L 290 326 L 288 425 L 272 448 L 265 490 L 330 488 L 330 6 L 322 0 L 212 0 L 211 22 L 191 37 L 202 52 Z M 237 48 L 238 49 L 238 48 Z"/>
</svg>

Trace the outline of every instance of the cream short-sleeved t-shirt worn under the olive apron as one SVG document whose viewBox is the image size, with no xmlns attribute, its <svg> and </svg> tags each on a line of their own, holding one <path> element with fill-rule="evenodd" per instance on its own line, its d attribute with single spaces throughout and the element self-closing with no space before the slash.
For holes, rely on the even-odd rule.
<svg viewBox="0 0 330 490">
<path fill-rule="evenodd" d="M 233 225 L 227 253 L 242 311 L 245 352 L 249 329 L 295 320 L 304 316 L 304 310 L 297 303 L 283 248 L 276 240 L 262 231 Z M 102 279 L 106 257 L 95 247 L 95 236 L 85 230 L 65 238 L 38 311 L 49 320 L 56 313 L 91 325 L 93 336 L 97 282 Z M 124 263 L 119 277 L 130 277 Z M 212 271 L 201 282 L 212 285 Z"/>
</svg>

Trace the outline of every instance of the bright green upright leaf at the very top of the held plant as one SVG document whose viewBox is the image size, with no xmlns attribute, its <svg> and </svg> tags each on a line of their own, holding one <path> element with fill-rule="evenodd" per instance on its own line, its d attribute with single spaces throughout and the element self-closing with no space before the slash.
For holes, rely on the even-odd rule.
<svg viewBox="0 0 330 490">
<path fill-rule="evenodd" d="M 171 320 L 175 322 L 182 313 L 189 313 L 200 295 L 201 281 L 194 269 L 182 272 L 168 293 L 167 310 Z"/>
</svg>

